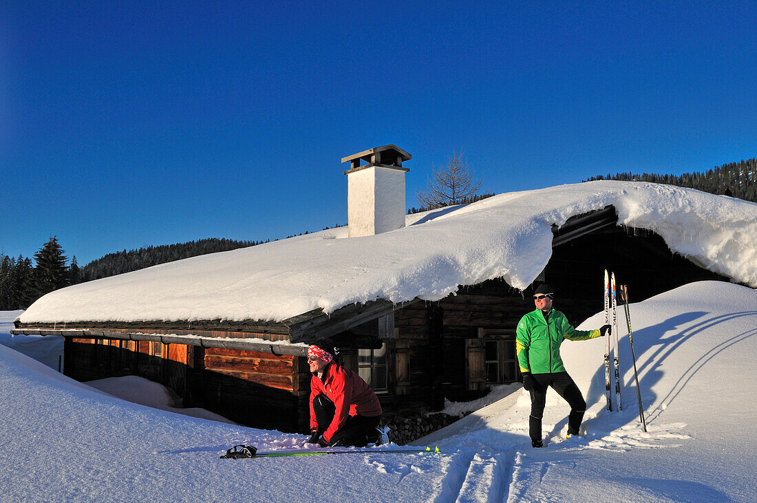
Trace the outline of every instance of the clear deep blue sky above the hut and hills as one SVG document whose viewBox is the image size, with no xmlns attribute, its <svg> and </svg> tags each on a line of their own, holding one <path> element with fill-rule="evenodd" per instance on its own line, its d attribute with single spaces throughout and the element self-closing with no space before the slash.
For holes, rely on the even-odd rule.
<svg viewBox="0 0 757 503">
<path fill-rule="evenodd" d="M 341 157 L 407 206 L 462 151 L 501 193 L 757 155 L 753 2 L 2 2 L 0 252 L 80 265 L 347 222 Z"/>
</svg>

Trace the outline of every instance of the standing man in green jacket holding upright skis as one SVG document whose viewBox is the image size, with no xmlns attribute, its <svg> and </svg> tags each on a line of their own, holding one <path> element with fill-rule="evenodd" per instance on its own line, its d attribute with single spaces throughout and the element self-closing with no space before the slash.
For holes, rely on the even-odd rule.
<svg viewBox="0 0 757 503">
<path fill-rule="evenodd" d="M 523 316 L 516 329 L 516 352 L 523 387 L 531 393 L 531 416 L 528 418 L 528 433 L 531 446 L 542 447 L 541 418 L 547 399 L 547 387 L 565 399 L 571 407 L 568 416 L 568 437 L 578 435 L 584 419 L 586 402 L 581 390 L 565 371 L 560 358 L 560 344 L 565 339 L 587 340 L 602 337 L 610 332 L 610 325 L 599 330 L 576 330 L 562 312 L 552 309 L 554 291 L 547 284 L 534 290 L 536 309 Z"/>
</svg>

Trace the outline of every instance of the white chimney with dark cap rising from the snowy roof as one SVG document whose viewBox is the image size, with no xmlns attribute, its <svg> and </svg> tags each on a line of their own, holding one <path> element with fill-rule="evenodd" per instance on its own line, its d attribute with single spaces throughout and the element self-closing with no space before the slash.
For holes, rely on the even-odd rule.
<svg viewBox="0 0 757 503">
<path fill-rule="evenodd" d="M 371 148 L 342 158 L 347 175 L 347 223 L 350 238 L 372 236 L 405 226 L 405 173 L 410 154 L 397 145 Z M 368 164 L 360 166 L 360 160 Z"/>
</svg>

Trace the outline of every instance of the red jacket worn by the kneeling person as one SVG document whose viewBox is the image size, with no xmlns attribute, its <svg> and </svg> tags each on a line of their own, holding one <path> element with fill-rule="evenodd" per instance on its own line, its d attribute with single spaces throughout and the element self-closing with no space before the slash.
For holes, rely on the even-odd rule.
<svg viewBox="0 0 757 503">
<path fill-rule="evenodd" d="M 336 406 L 334 420 L 323 432 L 326 442 L 329 442 L 339 428 L 344 426 L 348 416 L 361 415 L 370 418 L 382 414 L 378 397 L 366 381 L 355 372 L 332 363 L 324 369 L 322 379 L 319 379 L 316 374 L 310 378 L 311 428 L 318 427 L 316 413 L 313 411 L 313 399 L 320 393 L 326 395 Z"/>
</svg>

